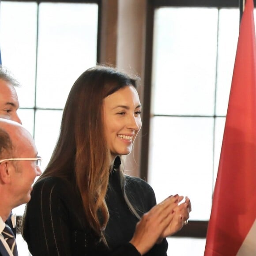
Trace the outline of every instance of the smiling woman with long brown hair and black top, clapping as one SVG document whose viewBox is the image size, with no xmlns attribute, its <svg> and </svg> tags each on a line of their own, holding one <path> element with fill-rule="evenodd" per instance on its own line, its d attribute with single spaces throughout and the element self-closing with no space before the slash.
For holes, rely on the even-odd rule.
<svg viewBox="0 0 256 256">
<path fill-rule="evenodd" d="M 149 184 L 123 174 L 140 111 L 136 79 L 114 68 L 90 68 L 75 81 L 23 218 L 32 255 L 166 256 L 166 237 L 185 225 L 191 203 L 176 195 L 155 205 Z"/>
</svg>

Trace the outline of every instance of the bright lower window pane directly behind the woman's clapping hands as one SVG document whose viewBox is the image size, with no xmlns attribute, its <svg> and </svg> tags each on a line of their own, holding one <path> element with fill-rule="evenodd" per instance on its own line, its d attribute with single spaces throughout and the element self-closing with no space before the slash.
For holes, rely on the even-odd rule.
<svg viewBox="0 0 256 256">
<path fill-rule="evenodd" d="M 154 117 L 151 120 L 149 183 L 158 202 L 169 195 L 189 196 L 191 219 L 211 211 L 214 119 Z M 202 196 L 203 192 L 203 196 Z"/>
</svg>

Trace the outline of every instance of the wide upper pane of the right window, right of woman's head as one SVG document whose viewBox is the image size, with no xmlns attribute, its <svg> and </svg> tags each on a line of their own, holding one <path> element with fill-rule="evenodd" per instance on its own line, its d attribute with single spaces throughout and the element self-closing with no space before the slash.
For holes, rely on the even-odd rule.
<svg viewBox="0 0 256 256">
<path fill-rule="evenodd" d="M 214 114 L 217 27 L 215 8 L 155 11 L 154 114 Z"/>
</svg>

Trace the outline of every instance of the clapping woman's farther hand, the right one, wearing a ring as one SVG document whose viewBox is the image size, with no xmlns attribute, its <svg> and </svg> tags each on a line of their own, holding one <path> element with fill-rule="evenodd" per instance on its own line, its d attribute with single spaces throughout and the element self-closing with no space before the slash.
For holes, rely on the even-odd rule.
<svg viewBox="0 0 256 256">
<path fill-rule="evenodd" d="M 181 230 L 181 228 L 188 223 L 189 213 L 191 212 L 191 202 L 186 196 L 184 203 L 177 205 L 173 209 L 173 220 L 170 225 L 164 230 L 161 237 L 159 237 L 159 242 L 163 238 L 168 237 Z"/>
</svg>

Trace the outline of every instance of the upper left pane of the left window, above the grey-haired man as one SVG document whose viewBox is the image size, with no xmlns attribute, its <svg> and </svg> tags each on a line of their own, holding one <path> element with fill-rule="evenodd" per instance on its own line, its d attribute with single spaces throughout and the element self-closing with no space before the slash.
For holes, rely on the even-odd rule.
<svg viewBox="0 0 256 256">
<path fill-rule="evenodd" d="M 34 107 L 37 4 L 1 1 L 0 12 L 2 64 L 23 85 L 20 106 Z"/>
</svg>

